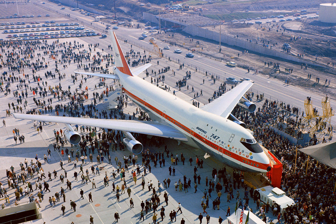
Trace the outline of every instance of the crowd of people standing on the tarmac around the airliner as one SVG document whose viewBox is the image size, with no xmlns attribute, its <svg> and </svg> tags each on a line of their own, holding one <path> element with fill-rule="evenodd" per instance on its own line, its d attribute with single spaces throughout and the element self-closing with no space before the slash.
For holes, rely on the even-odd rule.
<svg viewBox="0 0 336 224">
<path fill-rule="evenodd" d="M 89 76 L 80 77 L 80 75 L 75 74 L 71 77 L 67 77 L 65 73 L 61 72 L 61 67 L 65 70 L 70 63 L 76 63 L 78 69 L 84 69 L 85 71 L 91 70 L 92 72 L 103 70 L 103 63 L 106 63 L 105 67 L 108 68 L 114 63 L 112 55 L 108 53 L 99 53 L 96 51 L 98 46 L 99 43 L 94 45 L 89 44 L 88 49 L 85 49 L 84 44 L 80 44 L 79 42 L 60 43 L 58 40 L 53 41 L 52 43 L 48 43 L 44 40 L 26 42 L 0 41 L 1 52 L 6 56 L 6 60 L 4 60 L 4 55 L 1 56 L 3 60 L 0 69 L 8 68 L 8 71 L 3 71 L 1 76 L 1 91 L 4 92 L 6 96 L 12 91 L 14 98 L 16 98 L 16 101 L 14 101 L 15 103 L 8 102 L 9 109 L 13 109 L 14 111 L 15 109 L 17 111 L 20 110 L 21 113 L 23 113 L 22 106 L 26 109 L 26 106 L 29 103 L 34 105 L 34 108 L 26 110 L 26 113 L 29 114 L 55 113 L 57 116 L 67 115 L 70 117 L 151 120 L 148 114 L 141 110 L 138 111 L 138 109 L 136 109 L 136 113 L 133 113 L 133 115 L 124 114 L 123 108 L 127 106 L 128 101 L 128 98 L 125 95 L 118 98 L 119 105 L 117 109 L 111 110 L 109 114 L 107 110 L 98 110 L 96 105 L 97 100 L 100 102 L 104 96 L 108 95 L 109 91 L 113 91 L 113 86 L 104 86 L 100 93 L 98 90 L 97 92 L 93 92 L 93 97 L 91 98 L 87 86 L 84 87 L 87 79 L 90 78 Z M 111 47 L 109 46 L 109 48 Z M 43 51 L 43 56 L 35 51 Z M 134 66 L 151 60 L 150 57 L 146 57 L 145 52 L 142 56 L 140 52 L 135 52 L 132 49 L 129 52 L 126 52 L 126 56 L 128 57 L 128 62 L 134 64 Z M 54 61 L 52 65 L 55 66 L 55 70 L 46 71 L 44 78 L 43 75 L 37 75 L 37 73 L 41 73 L 42 70 L 48 70 L 50 68 L 51 60 L 46 62 L 46 58 L 48 57 Z M 131 62 L 130 58 L 135 60 Z M 272 63 L 270 63 L 270 65 L 272 65 Z M 274 64 L 274 66 L 276 67 L 279 65 Z M 181 65 L 180 68 L 181 67 L 184 66 Z M 32 71 L 32 75 L 28 75 L 29 72 L 27 73 L 27 70 Z M 159 79 L 157 80 L 164 81 L 164 75 L 160 75 L 167 71 L 170 71 L 170 66 L 164 67 L 159 71 Z M 154 72 L 154 76 L 156 76 L 155 73 L 156 72 Z M 175 74 L 175 72 L 173 71 L 172 74 Z M 151 75 L 153 75 L 153 71 Z M 56 79 L 56 76 L 58 76 L 59 84 L 55 86 L 47 85 L 47 80 Z M 62 79 L 66 78 L 71 78 L 72 82 L 78 85 L 78 88 L 70 87 L 70 85 L 68 88 L 62 87 L 60 82 Z M 179 80 L 177 85 L 185 86 L 187 78 L 191 78 L 191 73 L 186 73 L 186 77 Z M 211 79 L 215 83 L 215 80 L 219 80 L 219 77 L 211 77 Z M 14 88 L 13 90 L 14 83 L 16 84 L 16 89 Z M 233 88 L 233 86 L 231 88 Z M 213 98 L 215 99 L 225 92 L 226 83 L 220 84 L 218 85 L 218 90 L 214 92 Z M 33 95 L 33 102 L 27 101 L 30 94 Z M 201 95 L 202 92 L 200 96 Z M 253 95 L 251 98 L 253 98 Z M 25 100 L 23 101 L 23 99 Z M 91 100 L 91 103 L 89 103 L 89 100 Z M 256 140 L 262 141 L 263 145 L 281 158 L 281 161 L 283 162 L 284 171 L 281 188 L 288 196 L 295 200 L 295 205 L 287 208 L 283 214 L 280 214 L 280 216 L 278 214 L 274 215 L 277 216 L 278 220 L 281 220 L 281 222 L 284 223 L 336 223 L 336 210 L 334 207 L 336 198 L 333 194 L 333 189 L 327 186 L 330 183 L 330 180 L 333 179 L 334 170 L 321 163 L 317 164 L 313 159 L 308 160 L 307 156 L 299 151 L 297 152 L 298 154 L 295 164 L 294 159 L 296 157 L 296 149 L 301 146 L 291 145 L 286 138 L 283 138 L 268 128 L 269 124 L 275 124 L 276 120 L 281 117 L 279 114 L 287 116 L 288 113 L 290 115 L 294 108 L 288 108 L 288 105 L 278 106 L 276 102 L 268 102 L 267 99 L 264 100 L 261 96 L 260 98 L 257 96 L 257 101 L 263 101 L 263 105 L 262 108 L 259 107 L 255 113 L 246 113 L 241 108 L 237 107 L 235 115 L 238 115 L 238 117 L 245 122 L 247 128 L 254 132 Z M 278 113 L 275 113 L 275 111 Z M 297 109 L 294 109 L 294 112 L 297 115 Z M 136 118 L 136 115 L 138 118 Z M 37 125 L 35 124 L 34 127 L 36 130 L 42 132 L 42 126 L 42 123 L 38 123 Z M 78 129 L 80 129 L 80 132 L 82 133 L 82 142 L 79 144 L 78 148 L 75 148 L 75 150 L 73 148 L 70 150 L 67 148 L 67 139 L 62 135 L 61 130 L 54 131 L 56 141 L 54 144 L 54 151 L 60 151 L 61 155 L 64 155 L 65 152 L 65 155 L 68 158 L 68 163 L 73 164 L 71 170 L 63 167 L 64 164 L 62 161 L 59 163 L 61 167 L 60 171 L 48 170 L 48 166 L 46 165 L 50 162 L 50 155 L 52 153 L 52 151 L 48 149 L 42 158 L 39 158 L 39 155 L 36 154 L 36 161 L 31 160 L 28 162 L 28 160 L 25 160 L 21 162 L 19 170 L 15 170 L 13 166 L 7 169 L 6 176 L 8 178 L 8 188 L 6 189 L 4 186 L 5 184 L 1 183 L 0 196 L 8 197 L 8 190 L 11 188 L 14 189 L 13 193 L 16 198 L 15 204 L 18 204 L 18 201 L 21 200 L 22 197 L 28 196 L 29 201 L 35 201 L 40 207 L 39 203 L 41 203 L 46 194 L 46 198 L 51 207 L 58 202 L 62 204 L 61 211 L 64 215 L 67 212 L 65 208 L 65 205 L 67 205 L 66 193 L 67 191 L 72 190 L 72 182 L 81 181 L 81 184 L 83 184 L 82 186 L 91 182 L 92 188 L 96 188 L 96 181 L 94 178 L 96 175 L 100 175 L 100 172 L 103 173 L 103 165 L 101 164 L 109 163 L 112 165 L 114 156 L 111 156 L 111 154 L 116 150 L 125 154 L 123 152 L 125 146 L 121 141 L 122 132 L 117 130 L 109 130 L 106 132 L 106 130 L 101 130 L 100 128 L 97 130 L 97 128 L 77 125 L 76 130 L 78 131 Z M 18 134 L 17 130 L 16 132 L 13 130 L 13 135 L 14 140 L 19 136 L 21 139 L 23 137 L 24 142 L 24 136 Z M 212 199 L 213 210 L 219 209 L 220 204 L 223 203 L 222 194 L 225 195 L 225 193 L 224 201 L 229 202 L 232 200 L 244 199 L 245 205 L 242 205 L 242 200 L 240 200 L 240 206 L 245 207 L 246 209 L 249 208 L 249 198 L 254 198 L 254 196 L 251 193 L 251 189 L 248 189 L 247 185 L 244 184 L 244 176 L 241 172 L 234 170 L 230 173 L 226 170 L 226 167 L 223 166 L 213 168 L 212 176 L 208 177 L 199 172 L 199 170 L 203 168 L 204 161 L 202 158 L 196 157 L 195 161 L 193 158 L 186 159 L 184 158 L 183 153 L 174 156 L 164 144 L 163 138 L 154 137 L 149 140 L 142 134 L 134 134 L 134 137 L 138 139 L 144 147 L 148 145 L 148 147 L 154 147 L 154 149 L 144 150 L 141 157 L 139 156 L 139 161 L 138 156 L 134 154 L 129 154 L 128 156 L 124 155 L 124 158 L 121 159 L 118 159 L 116 156 L 113 159 L 115 165 L 113 164 L 113 168 L 111 168 L 112 171 L 110 172 L 112 173 L 112 176 L 107 172 L 103 173 L 103 183 L 104 185 L 109 185 L 110 181 L 113 182 L 111 185 L 112 191 L 115 192 L 116 201 L 119 201 L 120 195 L 126 191 L 130 198 L 130 207 L 132 208 L 134 207 L 134 201 L 131 198 L 129 185 L 133 181 L 134 185 L 136 185 L 137 179 L 141 178 L 138 185 L 142 186 L 142 190 L 144 190 L 147 185 L 148 191 L 151 191 L 152 194 L 145 200 L 145 202 L 141 201 L 141 203 L 138 203 L 141 206 L 141 211 L 139 211 L 140 219 L 144 220 L 144 213 L 148 214 L 151 211 L 153 211 L 152 220 L 154 223 L 159 219 L 157 217 L 158 214 L 156 214 L 157 211 L 160 211 L 162 221 L 166 217 L 165 208 L 163 206 L 160 208 L 160 202 L 165 201 L 166 205 L 168 205 L 169 196 L 164 189 L 170 187 L 171 180 L 170 178 L 162 178 L 157 184 L 154 184 L 151 180 L 146 181 L 145 176 L 152 172 L 152 166 L 155 169 L 159 167 L 167 169 L 169 176 L 175 176 L 175 167 L 186 166 L 189 165 L 188 163 L 190 163 L 190 166 L 194 166 L 194 174 L 191 173 L 181 176 L 173 185 L 175 191 L 181 193 L 187 193 L 190 188 L 194 188 L 196 193 L 200 190 L 202 185 L 204 196 L 202 195 L 202 198 L 200 198 L 200 211 L 203 211 L 203 214 L 207 214 L 210 199 Z M 164 151 L 158 152 L 155 149 L 163 145 L 165 145 Z M 93 165 L 94 156 L 96 156 L 96 161 L 94 161 L 95 164 Z M 42 159 L 44 159 L 44 163 L 42 162 Z M 142 162 L 141 165 L 140 162 Z M 187 164 L 185 164 L 185 162 L 187 162 Z M 77 167 L 77 163 L 80 164 L 79 167 Z M 85 169 L 84 166 L 87 166 L 87 169 Z M 131 172 L 129 172 L 129 169 Z M 91 173 L 89 170 L 91 170 Z M 67 175 L 69 175 L 69 171 L 71 172 L 71 175 L 68 177 Z M 80 176 L 81 178 L 80 180 L 77 180 L 77 176 L 80 175 L 80 173 L 82 173 Z M 45 174 L 48 175 L 48 178 Z M 118 178 L 118 175 L 120 176 L 120 179 Z M 72 179 L 73 177 L 75 179 Z M 44 180 L 43 183 L 42 178 Z M 46 178 L 47 180 L 45 180 Z M 65 188 L 64 179 L 66 179 L 67 188 Z M 194 182 L 192 182 L 192 180 L 194 180 Z M 64 184 L 64 186 L 62 186 L 59 191 L 54 191 L 54 189 L 52 189 L 53 192 L 51 193 L 49 189 L 50 181 L 57 184 Z M 221 183 L 221 181 L 223 181 L 223 183 Z M 163 186 L 161 182 L 163 182 Z M 35 193 L 33 193 L 33 184 L 35 184 Z M 204 184 L 205 189 L 203 191 Z M 242 195 L 237 191 L 240 188 L 242 188 L 244 192 Z M 163 199 L 161 196 L 162 191 L 164 191 Z M 23 192 L 25 192 L 25 196 L 23 195 Z M 82 190 L 81 196 L 83 198 Z M 92 201 L 91 192 L 88 196 L 89 201 Z M 61 197 L 63 197 L 62 203 L 60 202 Z M 68 203 L 70 203 L 70 208 L 76 211 L 76 203 L 72 200 Z M 137 204 L 137 202 L 135 202 L 135 204 Z M 5 205 L 3 204 L 2 208 L 4 207 Z M 268 215 L 269 207 L 273 213 L 275 208 L 277 208 L 274 205 L 270 205 L 267 208 L 266 204 L 258 207 L 260 207 L 258 208 L 260 212 L 259 214 L 265 221 L 267 217 L 274 216 L 273 214 Z M 173 221 L 173 219 L 176 221 L 178 212 L 182 213 L 180 203 L 176 209 L 177 211 L 172 210 L 170 213 L 168 211 L 171 221 Z M 228 213 L 226 215 L 230 214 L 229 211 L 228 208 Z M 115 213 L 114 217 L 118 221 L 120 218 L 118 212 Z M 93 217 L 90 217 L 90 222 L 91 218 L 93 220 Z M 202 222 L 202 213 L 198 216 L 198 219 Z M 208 214 L 206 220 L 207 222 L 210 220 Z M 221 223 L 221 221 L 222 218 L 219 217 L 218 222 Z M 181 223 L 184 223 L 184 219 L 181 220 Z"/>
</svg>

